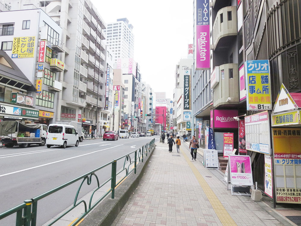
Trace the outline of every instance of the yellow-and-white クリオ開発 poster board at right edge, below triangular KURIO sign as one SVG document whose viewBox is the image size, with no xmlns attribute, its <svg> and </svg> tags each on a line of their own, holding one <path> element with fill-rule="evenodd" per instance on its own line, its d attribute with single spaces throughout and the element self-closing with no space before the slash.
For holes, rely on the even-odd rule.
<svg viewBox="0 0 301 226">
<path fill-rule="evenodd" d="M 301 204 L 301 129 L 272 128 L 276 202 Z"/>
</svg>

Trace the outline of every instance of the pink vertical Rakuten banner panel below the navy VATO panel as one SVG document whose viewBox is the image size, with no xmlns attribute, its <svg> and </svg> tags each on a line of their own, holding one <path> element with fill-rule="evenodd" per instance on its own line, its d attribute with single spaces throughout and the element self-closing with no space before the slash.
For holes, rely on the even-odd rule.
<svg viewBox="0 0 301 226">
<path fill-rule="evenodd" d="M 210 68 L 210 25 L 198 25 L 196 33 L 197 69 Z"/>
</svg>

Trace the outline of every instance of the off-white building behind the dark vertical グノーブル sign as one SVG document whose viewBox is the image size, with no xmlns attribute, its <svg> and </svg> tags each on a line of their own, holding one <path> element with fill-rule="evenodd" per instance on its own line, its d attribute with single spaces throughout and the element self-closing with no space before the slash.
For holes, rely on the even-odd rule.
<svg viewBox="0 0 301 226">
<path fill-rule="evenodd" d="M 193 59 L 180 59 L 175 68 L 175 88 L 173 89 L 173 123 L 175 132 L 180 136 L 191 133 L 189 125 L 191 121 L 185 121 L 184 112 L 191 110 L 184 110 L 184 69 L 186 67 L 192 68 Z"/>
</svg>

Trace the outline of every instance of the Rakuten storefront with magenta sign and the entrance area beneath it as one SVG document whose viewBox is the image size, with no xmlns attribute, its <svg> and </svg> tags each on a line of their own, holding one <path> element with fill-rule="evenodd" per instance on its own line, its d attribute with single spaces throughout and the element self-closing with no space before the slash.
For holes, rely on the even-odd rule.
<svg viewBox="0 0 301 226">
<path fill-rule="evenodd" d="M 214 130 L 216 149 L 222 153 L 224 149 L 224 133 L 234 133 L 234 148 L 238 149 L 238 116 L 237 110 L 211 110 L 210 127 Z"/>
</svg>

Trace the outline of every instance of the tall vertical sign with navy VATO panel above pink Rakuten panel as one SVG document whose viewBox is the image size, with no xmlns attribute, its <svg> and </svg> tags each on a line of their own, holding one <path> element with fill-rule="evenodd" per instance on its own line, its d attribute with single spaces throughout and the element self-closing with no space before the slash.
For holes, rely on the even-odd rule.
<svg viewBox="0 0 301 226">
<path fill-rule="evenodd" d="M 209 0 L 197 0 L 195 4 L 196 69 L 210 68 L 210 16 Z"/>
</svg>

